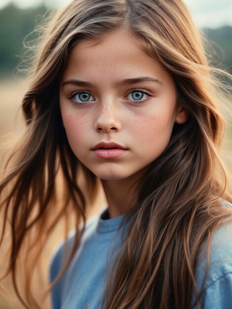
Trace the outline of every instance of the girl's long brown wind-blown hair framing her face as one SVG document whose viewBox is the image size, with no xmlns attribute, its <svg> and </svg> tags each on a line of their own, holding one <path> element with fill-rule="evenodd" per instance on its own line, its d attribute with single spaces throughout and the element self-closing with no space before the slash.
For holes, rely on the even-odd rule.
<svg viewBox="0 0 232 309">
<path fill-rule="evenodd" d="M 231 210 L 220 202 L 231 201 L 231 195 L 220 158 L 224 121 L 217 102 L 223 85 L 215 75 L 231 76 L 208 65 L 201 35 L 186 6 L 181 0 L 74 0 L 55 15 L 40 44 L 22 105 L 27 131 L 11 156 L 16 157 L 13 169 L 0 184 L 2 237 L 7 220 L 11 228 L 7 271 L 25 308 L 40 307 L 30 291 L 28 273 L 27 298 L 23 300 L 18 292 L 16 265 L 24 242 L 29 243 L 28 256 L 33 246 L 44 246 L 61 218 L 76 213 L 73 248 L 52 288 L 84 230 L 85 196 L 94 197 L 98 189 L 96 176 L 81 165 L 69 146 L 59 109 L 59 80 L 78 42 L 103 38 L 120 27 L 128 28 L 144 51 L 172 75 L 178 103 L 189 117 L 186 123 L 174 125 L 166 150 L 137 184 L 138 202 L 129 213 L 133 220 L 118 253 L 116 271 L 108 278 L 103 307 L 187 309 L 194 294 L 199 309 L 202 290 L 197 290 L 194 276 L 197 256 L 206 242 L 209 262 L 213 232 L 226 223 L 222 218 L 231 218 Z M 78 185 L 79 173 L 84 175 L 87 194 Z M 58 174 L 63 204 L 51 220 Z"/>
</svg>

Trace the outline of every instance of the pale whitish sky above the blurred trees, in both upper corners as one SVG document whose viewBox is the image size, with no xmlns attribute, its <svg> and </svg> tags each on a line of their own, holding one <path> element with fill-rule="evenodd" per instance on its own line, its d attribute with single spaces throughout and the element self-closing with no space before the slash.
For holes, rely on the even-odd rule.
<svg viewBox="0 0 232 309">
<path fill-rule="evenodd" d="M 0 0 L 0 8 L 9 2 L 14 2 L 21 8 L 36 6 L 42 2 L 46 6 L 64 5 L 71 0 Z M 232 26 L 232 0 L 184 0 L 192 13 L 197 27 L 218 28 Z M 32 4 L 33 3 L 33 4 Z"/>
</svg>

